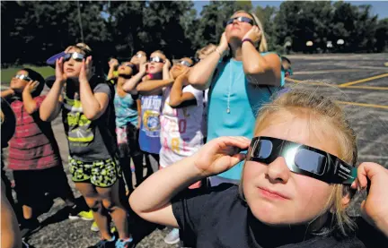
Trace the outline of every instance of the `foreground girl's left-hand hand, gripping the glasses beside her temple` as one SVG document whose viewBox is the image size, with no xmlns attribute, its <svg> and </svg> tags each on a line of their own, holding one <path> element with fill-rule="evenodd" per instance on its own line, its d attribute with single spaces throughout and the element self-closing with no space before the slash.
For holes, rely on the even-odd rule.
<svg viewBox="0 0 388 248">
<path fill-rule="evenodd" d="M 203 176 L 220 174 L 245 159 L 240 150 L 248 149 L 251 141 L 242 136 L 225 136 L 209 141 L 196 155 L 194 163 Z"/>
</svg>

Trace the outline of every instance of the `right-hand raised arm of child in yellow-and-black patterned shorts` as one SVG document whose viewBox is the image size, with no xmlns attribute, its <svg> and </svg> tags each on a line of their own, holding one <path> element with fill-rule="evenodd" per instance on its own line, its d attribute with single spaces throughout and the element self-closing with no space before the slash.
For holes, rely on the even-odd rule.
<svg viewBox="0 0 388 248">
<path fill-rule="evenodd" d="M 104 92 L 93 93 L 89 81 L 87 80 L 90 78 L 87 74 L 90 72 L 89 67 L 91 60 L 92 58 L 89 56 L 86 58 L 86 61 L 83 61 L 78 81 L 80 84 L 81 103 L 84 106 L 84 115 L 88 120 L 93 121 L 98 119 L 107 109 L 109 104 L 109 95 Z"/>
</svg>

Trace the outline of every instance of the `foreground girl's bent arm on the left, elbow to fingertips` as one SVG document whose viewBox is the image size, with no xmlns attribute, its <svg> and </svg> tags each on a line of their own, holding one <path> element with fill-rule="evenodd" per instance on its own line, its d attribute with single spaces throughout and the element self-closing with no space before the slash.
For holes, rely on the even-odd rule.
<svg viewBox="0 0 388 248">
<path fill-rule="evenodd" d="M 208 142 L 197 154 L 149 176 L 129 198 L 132 210 L 145 220 L 178 227 L 172 213 L 172 198 L 183 189 L 208 175 L 234 167 L 245 155 L 234 154 L 235 148 L 246 149 L 244 137 L 222 137 Z"/>
</svg>

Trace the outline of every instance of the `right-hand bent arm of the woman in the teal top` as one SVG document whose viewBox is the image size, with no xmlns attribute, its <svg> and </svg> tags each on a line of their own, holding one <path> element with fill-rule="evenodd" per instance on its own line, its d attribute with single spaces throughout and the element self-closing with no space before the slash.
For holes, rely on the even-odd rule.
<svg viewBox="0 0 388 248">
<path fill-rule="evenodd" d="M 256 44 L 260 42 L 261 31 L 253 26 L 242 38 L 249 39 Z M 281 85 L 281 63 L 276 54 L 261 56 L 250 41 L 242 41 L 242 67 L 244 73 L 252 84 L 255 85 Z"/>
</svg>

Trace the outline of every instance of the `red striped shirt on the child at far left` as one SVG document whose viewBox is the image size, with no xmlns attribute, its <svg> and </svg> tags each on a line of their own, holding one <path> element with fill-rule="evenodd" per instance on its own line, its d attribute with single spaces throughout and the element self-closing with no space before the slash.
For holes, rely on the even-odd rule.
<svg viewBox="0 0 388 248">
<path fill-rule="evenodd" d="M 34 98 L 38 107 L 44 98 Z M 29 115 L 19 99 L 11 107 L 16 116 L 16 129 L 9 141 L 8 168 L 36 170 L 59 165 L 59 150 L 51 124 L 40 120 L 39 111 Z"/>
</svg>

